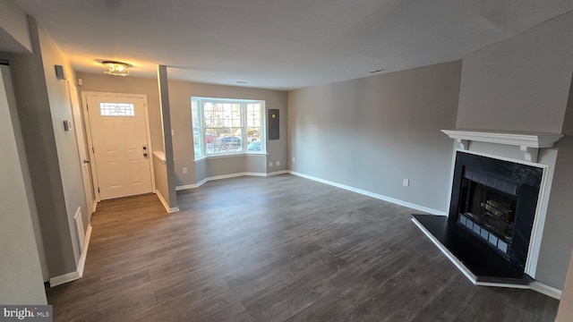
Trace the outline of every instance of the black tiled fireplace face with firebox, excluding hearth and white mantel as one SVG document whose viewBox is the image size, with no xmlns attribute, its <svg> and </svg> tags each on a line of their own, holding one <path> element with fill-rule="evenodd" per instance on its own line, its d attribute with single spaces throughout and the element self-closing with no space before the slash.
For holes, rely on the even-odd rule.
<svg viewBox="0 0 573 322">
<path fill-rule="evenodd" d="M 458 151 L 449 221 L 522 269 L 543 168 Z"/>
</svg>

